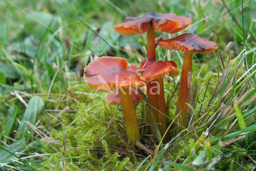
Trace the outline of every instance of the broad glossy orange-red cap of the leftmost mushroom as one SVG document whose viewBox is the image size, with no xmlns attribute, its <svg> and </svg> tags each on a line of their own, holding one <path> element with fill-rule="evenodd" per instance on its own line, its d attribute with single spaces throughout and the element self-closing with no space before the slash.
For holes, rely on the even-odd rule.
<svg viewBox="0 0 256 171">
<path fill-rule="evenodd" d="M 84 68 L 84 81 L 98 91 L 142 87 L 145 82 L 136 74 L 137 66 L 127 68 L 124 58 L 104 56 Z"/>
</svg>

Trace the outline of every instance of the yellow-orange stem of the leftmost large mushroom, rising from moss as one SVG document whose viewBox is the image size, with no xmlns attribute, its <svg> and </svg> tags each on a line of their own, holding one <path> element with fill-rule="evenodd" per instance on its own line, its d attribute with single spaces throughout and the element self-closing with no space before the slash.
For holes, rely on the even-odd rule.
<svg viewBox="0 0 256 171">
<path fill-rule="evenodd" d="M 140 141 L 140 132 L 138 127 L 138 121 L 135 113 L 134 104 L 132 103 L 132 97 L 129 94 L 129 89 L 118 89 L 122 106 L 124 109 L 124 121 L 127 130 L 128 141 L 134 147 L 137 141 Z"/>
</svg>

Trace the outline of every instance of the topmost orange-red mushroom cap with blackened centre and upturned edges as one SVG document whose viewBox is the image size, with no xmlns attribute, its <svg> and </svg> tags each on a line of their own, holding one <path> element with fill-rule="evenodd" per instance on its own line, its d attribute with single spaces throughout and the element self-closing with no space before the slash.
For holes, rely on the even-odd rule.
<svg viewBox="0 0 256 171">
<path fill-rule="evenodd" d="M 176 14 L 156 14 L 148 12 L 141 18 L 125 18 L 125 22 L 114 26 L 116 32 L 121 35 L 134 35 L 146 32 L 152 24 L 156 31 L 177 33 L 183 30 L 192 21 L 184 16 L 176 16 Z M 151 22 L 150 22 L 151 21 Z"/>
</svg>

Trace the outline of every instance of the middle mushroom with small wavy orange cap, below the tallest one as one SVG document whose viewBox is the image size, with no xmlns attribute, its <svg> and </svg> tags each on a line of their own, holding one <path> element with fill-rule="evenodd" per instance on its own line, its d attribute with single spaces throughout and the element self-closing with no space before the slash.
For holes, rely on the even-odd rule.
<svg viewBox="0 0 256 171">
<path fill-rule="evenodd" d="M 150 98 L 150 96 L 153 96 L 155 94 L 159 94 L 162 93 L 164 94 L 164 85 L 163 84 L 159 84 L 158 83 L 163 83 L 160 82 L 159 80 L 162 80 L 163 77 L 165 75 L 167 76 L 177 76 L 178 75 L 178 69 L 177 69 L 177 65 L 175 64 L 175 62 L 173 61 L 168 61 L 168 62 L 164 62 L 164 61 L 142 61 L 139 64 L 139 68 L 137 70 L 138 75 L 140 76 L 140 79 L 145 81 L 145 82 L 151 82 L 152 83 L 152 87 L 150 89 L 150 93 L 148 93 L 148 99 L 150 104 L 153 105 L 157 105 L 156 103 L 165 103 L 164 98 L 161 98 L 162 96 L 157 96 L 159 98 L 157 98 L 156 100 L 152 101 L 152 98 Z M 155 82 L 152 82 L 155 81 Z M 160 91 L 160 92 L 158 92 Z M 162 91 L 162 92 L 161 92 Z M 165 107 L 164 105 L 161 105 L 160 107 Z M 158 129 L 160 131 L 161 135 L 164 135 L 165 131 L 166 131 L 166 115 L 163 115 L 162 113 L 157 112 L 158 110 L 160 111 L 164 111 L 164 109 L 161 108 L 152 108 L 152 112 L 156 113 L 154 116 L 154 119 L 152 117 L 152 115 L 150 115 L 150 122 L 154 123 L 154 121 L 156 121 L 156 123 L 158 123 Z M 164 143 L 167 141 L 167 139 L 164 139 Z"/>
</svg>

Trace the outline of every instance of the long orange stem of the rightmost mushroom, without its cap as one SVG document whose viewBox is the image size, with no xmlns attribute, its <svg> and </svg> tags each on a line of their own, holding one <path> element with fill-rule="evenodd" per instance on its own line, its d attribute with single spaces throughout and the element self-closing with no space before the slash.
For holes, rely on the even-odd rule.
<svg viewBox="0 0 256 171">
<path fill-rule="evenodd" d="M 192 70 L 192 54 L 184 52 L 184 60 L 180 76 L 180 90 L 177 102 L 177 114 L 179 116 L 179 124 L 181 130 L 187 127 L 189 107 L 186 103 L 192 103 L 191 97 L 191 71 Z"/>
</svg>

